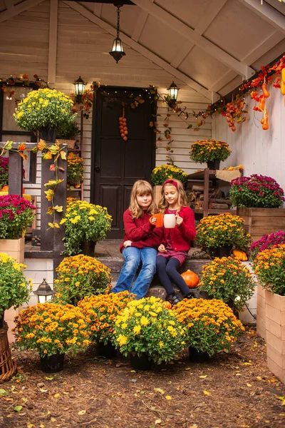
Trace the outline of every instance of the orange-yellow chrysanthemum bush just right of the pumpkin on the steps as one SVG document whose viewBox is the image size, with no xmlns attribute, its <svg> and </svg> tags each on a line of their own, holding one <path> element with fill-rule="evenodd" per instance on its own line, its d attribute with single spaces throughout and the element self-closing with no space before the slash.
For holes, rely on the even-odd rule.
<svg viewBox="0 0 285 428">
<path fill-rule="evenodd" d="M 204 265 L 199 290 L 223 300 L 234 309 L 242 310 L 254 293 L 255 282 L 249 268 L 232 257 L 214 258 Z"/>
</svg>

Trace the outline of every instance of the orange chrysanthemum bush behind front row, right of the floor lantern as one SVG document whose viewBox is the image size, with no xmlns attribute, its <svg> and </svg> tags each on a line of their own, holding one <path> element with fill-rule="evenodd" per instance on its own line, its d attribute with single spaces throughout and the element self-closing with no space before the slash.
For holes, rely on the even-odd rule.
<svg viewBox="0 0 285 428">
<path fill-rule="evenodd" d="M 86 296 L 105 293 L 112 281 L 109 267 L 83 254 L 64 258 L 56 271 L 56 298 L 63 303 L 76 304 Z"/>
</svg>

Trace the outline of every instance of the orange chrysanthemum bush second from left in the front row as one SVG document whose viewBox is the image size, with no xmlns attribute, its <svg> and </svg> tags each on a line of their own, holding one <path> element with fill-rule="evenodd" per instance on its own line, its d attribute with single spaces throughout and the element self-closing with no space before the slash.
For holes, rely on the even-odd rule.
<svg viewBox="0 0 285 428">
<path fill-rule="evenodd" d="M 135 295 L 128 291 L 110 292 L 105 295 L 87 296 L 78 306 L 88 316 L 89 328 L 94 341 L 107 345 L 113 337 L 113 330 L 117 315 L 125 308 Z"/>
</svg>

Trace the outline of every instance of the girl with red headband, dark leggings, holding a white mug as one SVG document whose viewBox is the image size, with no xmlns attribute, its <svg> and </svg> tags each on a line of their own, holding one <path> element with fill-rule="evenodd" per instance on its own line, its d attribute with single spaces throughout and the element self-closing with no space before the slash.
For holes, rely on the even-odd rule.
<svg viewBox="0 0 285 428">
<path fill-rule="evenodd" d="M 172 282 L 180 289 L 183 297 L 192 297 L 178 269 L 185 262 L 190 241 L 196 235 L 194 213 L 188 206 L 187 195 L 179 180 L 170 179 L 163 183 L 158 209 L 161 213 L 175 214 L 176 218 L 175 228 L 163 229 L 162 244 L 157 254 L 157 273 L 167 292 L 166 299 L 176 305 L 180 298 L 175 294 Z"/>
</svg>

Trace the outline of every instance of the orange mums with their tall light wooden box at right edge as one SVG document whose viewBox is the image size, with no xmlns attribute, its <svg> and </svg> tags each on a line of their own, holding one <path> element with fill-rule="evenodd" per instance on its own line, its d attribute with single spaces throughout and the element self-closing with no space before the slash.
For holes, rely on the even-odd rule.
<svg viewBox="0 0 285 428">
<path fill-rule="evenodd" d="M 267 365 L 285 383 L 285 244 L 258 253 L 253 266 L 259 285 L 265 289 Z"/>
</svg>

